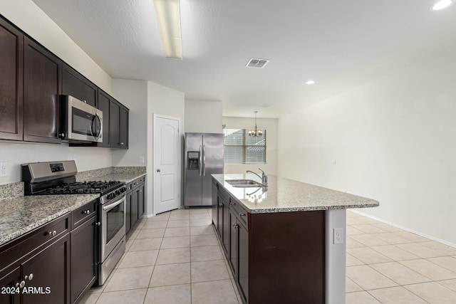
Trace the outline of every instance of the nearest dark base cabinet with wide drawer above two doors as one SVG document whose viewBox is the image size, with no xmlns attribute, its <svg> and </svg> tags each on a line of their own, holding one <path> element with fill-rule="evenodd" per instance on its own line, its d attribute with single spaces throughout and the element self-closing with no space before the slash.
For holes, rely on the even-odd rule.
<svg viewBox="0 0 456 304">
<path fill-rule="evenodd" d="M 0 247 L 0 303 L 69 303 L 70 215 Z"/>
</svg>

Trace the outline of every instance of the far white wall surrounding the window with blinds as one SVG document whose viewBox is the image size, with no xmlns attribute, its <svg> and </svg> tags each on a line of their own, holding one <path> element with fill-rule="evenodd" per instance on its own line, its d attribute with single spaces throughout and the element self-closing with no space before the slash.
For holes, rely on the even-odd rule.
<svg viewBox="0 0 456 304">
<path fill-rule="evenodd" d="M 223 125 L 227 128 L 252 129 L 254 118 L 223 117 Z M 266 130 L 266 164 L 224 164 L 224 173 L 242 173 L 247 170 L 259 172 L 260 167 L 266 174 L 277 174 L 277 122 L 275 118 L 258 118 L 257 125 Z"/>
</svg>

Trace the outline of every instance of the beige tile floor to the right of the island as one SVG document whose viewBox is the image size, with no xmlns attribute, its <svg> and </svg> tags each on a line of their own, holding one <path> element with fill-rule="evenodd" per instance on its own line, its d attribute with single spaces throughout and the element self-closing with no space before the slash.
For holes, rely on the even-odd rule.
<svg viewBox="0 0 456 304">
<path fill-rule="evenodd" d="M 456 248 L 347 211 L 347 304 L 456 303 Z"/>
</svg>

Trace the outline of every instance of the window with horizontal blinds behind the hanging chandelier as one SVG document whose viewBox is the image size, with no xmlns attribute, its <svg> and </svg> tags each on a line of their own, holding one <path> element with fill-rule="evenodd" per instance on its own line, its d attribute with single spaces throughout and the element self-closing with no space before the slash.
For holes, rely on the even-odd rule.
<svg viewBox="0 0 456 304">
<path fill-rule="evenodd" d="M 249 136 L 246 129 L 224 129 L 225 162 L 265 163 L 266 130 L 261 137 Z"/>
</svg>

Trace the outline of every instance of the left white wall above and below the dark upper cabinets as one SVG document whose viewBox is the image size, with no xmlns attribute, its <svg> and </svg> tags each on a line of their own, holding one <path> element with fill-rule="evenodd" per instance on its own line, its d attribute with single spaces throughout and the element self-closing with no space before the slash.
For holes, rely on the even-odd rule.
<svg viewBox="0 0 456 304">
<path fill-rule="evenodd" d="M 63 61 L 81 71 L 100 88 L 110 92 L 109 75 L 31 0 L 0 0 L 0 12 Z M 67 159 L 76 159 L 80 171 L 111 165 L 110 149 L 1 141 L 0 162 L 9 162 L 9 176 L 0 177 L 0 184 L 19 182 L 21 164 Z"/>
</svg>

